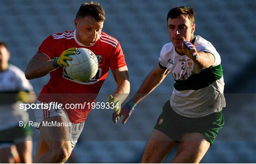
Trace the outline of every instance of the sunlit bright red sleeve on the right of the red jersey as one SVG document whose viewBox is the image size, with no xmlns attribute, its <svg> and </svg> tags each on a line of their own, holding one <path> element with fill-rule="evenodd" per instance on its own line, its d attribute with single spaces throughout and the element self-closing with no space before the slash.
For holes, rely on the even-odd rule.
<svg viewBox="0 0 256 164">
<path fill-rule="evenodd" d="M 123 50 L 120 46 L 120 43 L 118 43 L 118 46 L 114 54 L 110 58 L 110 69 L 114 70 L 123 66 L 126 66 L 125 57 L 124 57 Z"/>
</svg>

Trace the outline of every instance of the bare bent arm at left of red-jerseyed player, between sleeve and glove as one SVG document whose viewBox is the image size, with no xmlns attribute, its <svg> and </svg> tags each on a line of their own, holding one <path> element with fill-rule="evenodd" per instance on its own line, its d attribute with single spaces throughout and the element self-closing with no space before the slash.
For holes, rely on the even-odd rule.
<svg viewBox="0 0 256 164">
<path fill-rule="evenodd" d="M 49 72 L 55 70 L 53 60 L 44 53 L 37 53 L 31 58 L 25 71 L 28 80 L 45 76 Z"/>
</svg>

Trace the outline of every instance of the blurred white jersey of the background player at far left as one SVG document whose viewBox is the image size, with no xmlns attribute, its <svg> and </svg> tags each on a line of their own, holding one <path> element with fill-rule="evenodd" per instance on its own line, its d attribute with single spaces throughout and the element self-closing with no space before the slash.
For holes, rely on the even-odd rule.
<svg viewBox="0 0 256 164">
<path fill-rule="evenodd" d="M 6 71 L 0 72 L 0 95 L 1 98 L 15 98 L 14 94 L 19 91 L 32 91 L 33 87 L 28 82 L 23 71 L 17 66 L 9 64 Z M 12 94 L 12 95 L 10 95 Z M 19 109 L 20 101 L 10 100 L 12 103 L 0 104 L 0 130 L 16 126 L 19 121 L 27 122 L 27 111 Z"/>
</svg>

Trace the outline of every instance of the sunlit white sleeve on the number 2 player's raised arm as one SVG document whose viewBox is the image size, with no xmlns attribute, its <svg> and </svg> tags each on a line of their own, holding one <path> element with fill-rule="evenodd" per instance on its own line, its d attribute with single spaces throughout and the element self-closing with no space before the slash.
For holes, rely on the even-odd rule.
<svg viewBox="0 0 256 164">
<path fill-rule="evenodd" d="M 217 52 L 217 50 L 213 47 L 213 45 L 209 41 L 207 41 L 207 42 L 199 41 L 198 45 L 195 47 L 198 52 L 201 52 L 201 51 L 209 52 L 213 55 L 215 60 L 214 60 L 214 63 L 212 66 L 218 66 L 221 63 L 219 53 Z"/>
</svg>

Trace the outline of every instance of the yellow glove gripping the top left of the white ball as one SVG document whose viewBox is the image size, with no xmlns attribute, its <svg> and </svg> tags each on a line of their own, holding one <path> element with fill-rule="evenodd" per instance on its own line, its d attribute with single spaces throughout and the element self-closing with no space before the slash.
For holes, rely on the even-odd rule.
<svg viewBox="0 0 256 164">
<path fill-rule="evenodd" d="M 53 61 L 54 67 L 58 68 L 61 66 L 68 66 L 67 60 L 72 60 L 72 58 L 68 56 L 74 55 L 75 50 L 76 48 L 66 49 L 62 52 L 62 54 L 59 57 L 55 57 Z"/>
</svg>

